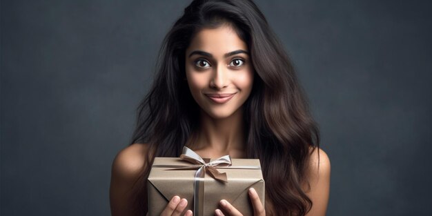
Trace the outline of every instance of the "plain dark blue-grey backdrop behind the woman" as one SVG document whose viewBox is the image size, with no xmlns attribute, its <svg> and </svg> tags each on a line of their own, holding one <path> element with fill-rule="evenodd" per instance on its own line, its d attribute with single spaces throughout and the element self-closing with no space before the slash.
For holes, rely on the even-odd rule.
<svg viewBox="0 0 432 216">
<path fill-rule="evenodd" d="M 108 215 L 110 166 L 190 1 L 1 1 L 1 215 Z M 431 1 L 257 1 L 332 164 L 328 215 L 430 215 Z"/>
</svg>

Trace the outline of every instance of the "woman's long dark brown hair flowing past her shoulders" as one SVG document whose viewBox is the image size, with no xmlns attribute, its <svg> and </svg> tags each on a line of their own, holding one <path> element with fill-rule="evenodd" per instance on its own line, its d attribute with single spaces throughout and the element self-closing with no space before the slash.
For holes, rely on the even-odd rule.
<svg viewBox="0 0 432 216">
<path fill-rule="evenodd" d="M 319 147 L 319 130 L 288 55 L 251 0 L 195 0 L 185 8 L 159 51 L 157 75 L 138 108 L 131 144 L 148 144 L 148 164 L 154 157 L 179 157 L 199 123 L 199 106 L 184 81 L 186 48 L 199 30 L 222 24 L 248 45 L 255 70 L 244 104 L 246 155 L 260 159 L 264 168 L 267 214 L 305 215 L 312 202 L 302 187 L 308 185 L 306 170 L 310 150 Z M 146 200 L 146 167 L 137 187 L 137 197 L 143 196 L 138 206 Z"/>
</svg>

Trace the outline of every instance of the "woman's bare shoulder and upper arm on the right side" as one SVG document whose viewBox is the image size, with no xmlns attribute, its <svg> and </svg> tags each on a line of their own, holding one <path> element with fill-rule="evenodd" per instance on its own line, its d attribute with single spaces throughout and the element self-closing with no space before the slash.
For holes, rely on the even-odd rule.
<svg viewBox="0 0 432 216">
<path fill-rule="evenodd" d="M 320 155 L 319 164 L 318 155 Z M 306 216 L 326 215 L 330 191 L 330 172 L 331 166 L 327 154 L 322 149 L 315 149 L 311 155 L 308 171 L 308 180 L 311 188 L 310 190 L 304 188 L 306 195 L 313 202 L 312 208 Z"/>
</svg>

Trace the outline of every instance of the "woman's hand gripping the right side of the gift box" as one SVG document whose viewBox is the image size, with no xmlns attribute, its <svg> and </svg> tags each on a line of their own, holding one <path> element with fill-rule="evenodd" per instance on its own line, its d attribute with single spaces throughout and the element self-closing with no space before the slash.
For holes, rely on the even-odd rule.
<svg viewBox="0 0 432 216">
<path fill-rule="evenodd" d="M 261 201 L 259 200 L 257 191 L 254 188 L 249 188 L 249 197 L 251 197 L 251 202 L 253 206 L 253 215 L 254 216 L 265 216 L 266 210 L 264 209 L 264 206 L 262 206 Z M 222 210 L 216 209 L 215 215 L 216 216 L 224 216 L 224 213 L 230 216 L 243 216 L 242 213 L 240 213 L 237 209 L 234 208 L 229 202 L 227 202 L 225 199 L 222 199 L 220 201 L 220 205 L 222 206 Z M 224 213 L 222 213 L 224 212 Z"/>
</svg>

